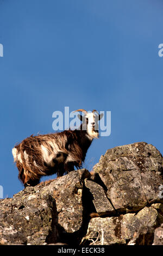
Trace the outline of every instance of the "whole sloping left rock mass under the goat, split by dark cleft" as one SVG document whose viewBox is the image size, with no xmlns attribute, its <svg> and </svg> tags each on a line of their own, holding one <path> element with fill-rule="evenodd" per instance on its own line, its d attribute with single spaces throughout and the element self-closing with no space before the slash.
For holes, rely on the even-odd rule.
<svg viewBox="0 0 163 256">
<path fill-rule="evenodd" d="M 57 180 L 27 187 L 13 198 L 1 200 L 0 220 L 20 231 L 28 245 L 56 243 L 58 238 L 60 242 L 66 241 L 70 234 L 74 241 L 78 240 L 84 229 L 81 190 L 88 177 L 90 173 L 81 169 Z"/>
</svg>

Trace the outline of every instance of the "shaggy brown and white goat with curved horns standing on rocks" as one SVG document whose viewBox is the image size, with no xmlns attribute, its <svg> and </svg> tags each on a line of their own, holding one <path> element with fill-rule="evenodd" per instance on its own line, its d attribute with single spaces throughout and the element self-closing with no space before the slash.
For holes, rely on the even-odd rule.
<svg viewBox="0 0 163 256">
<path fill-rule="evenodd" d="M 78 114 L 78 118 L 82 120 L 78 129 L 32 135 L 12 149 L 18 178 L 24 187 L 39 184 L 43 175 L 62 176 L 74 170 L 74 167 L 82 167 L 93 139 L 99 136 L 97 121 L 103 114 L 99 115 L 95 109 L 92 113 L 84 109 L 74 112 L 78 111 L 84 112 L 84 115 Z"/>
</svg>

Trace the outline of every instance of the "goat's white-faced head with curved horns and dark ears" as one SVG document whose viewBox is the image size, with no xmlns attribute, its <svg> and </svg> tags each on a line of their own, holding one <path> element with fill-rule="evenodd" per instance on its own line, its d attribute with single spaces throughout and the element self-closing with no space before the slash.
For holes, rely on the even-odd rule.
<svg viewBox="0 0 163 256">
<path fill-rule="evenodd" d="M 78 114 L 78 118 L 82 121 L 82 130 L 86 130 L 87 135 L 93 139 L 98 138 L 98 121 L 103 117 L 103 114 L 99 114 L 95 109 L 91 113 L 88 113 L 84 109 L 78 109 L 74 112 L 83 112 L 84 115 Z"/>
</svg>

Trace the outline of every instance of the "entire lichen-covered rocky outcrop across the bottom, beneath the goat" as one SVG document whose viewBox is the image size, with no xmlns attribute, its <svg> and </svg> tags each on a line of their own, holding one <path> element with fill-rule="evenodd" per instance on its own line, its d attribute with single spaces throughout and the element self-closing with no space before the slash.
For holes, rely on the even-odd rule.
<svg viewBox="0 0 163 256">
<path fill-rule="evenodd" d="M 162 243 L 163 158 L 151 144 L 109 149 L 93 168 L 0 201 L 1 245 Z"/>
</svg>

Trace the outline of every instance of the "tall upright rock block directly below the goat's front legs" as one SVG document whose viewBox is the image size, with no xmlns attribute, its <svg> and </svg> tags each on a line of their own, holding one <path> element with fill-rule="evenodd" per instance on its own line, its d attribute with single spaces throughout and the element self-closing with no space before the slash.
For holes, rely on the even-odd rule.
<svg viewBox="0 0 163 256">
<path fill-rule="evenodd" d="M 88 170 L 80 169 L 78 172 L 70 172 L 60 177 L 49 185 L 48 191 L 55 199 L 57 206 L 61 240 L 67 242 L 68 239 L 70 242 L 72 234 L 74 242 L 79 239 L 79 234 L 83 231 L 85 222 L 83 185 L 84 179 L 90 176 Z"/>
</svg>

